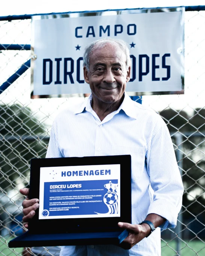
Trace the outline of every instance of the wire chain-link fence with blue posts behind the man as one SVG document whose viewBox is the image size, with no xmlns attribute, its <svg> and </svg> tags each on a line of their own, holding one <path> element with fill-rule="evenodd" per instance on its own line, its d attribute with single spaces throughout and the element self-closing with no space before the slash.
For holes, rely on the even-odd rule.
<svg viewBox="0 0 205 256">
<path fill-rule="evenodd" d="M 192 9 L 186 7 L 186 10 Z M 7 243 L 24 231 L 23 197 L 19 189 L 28 185 L 30 159 L 45 157 L 57 112 L 84 100 L 78 95 L 30 99 L 31 20 L 25 17 L 0 19 L 1 255 L 22 252 L 22 249 L 9 249 Z M 177 228 L 162 232 L 162 255 L 166 256 L 205 255 L 204 31 L 205 10 L 186 11 L 185 94 L 142 97 L 142 104 L 159 112 L 168 125 L 185 189 Z M 42 255 L 46 252 L 58 255 L 57 250 L 39 250 Z"/>
</svg>

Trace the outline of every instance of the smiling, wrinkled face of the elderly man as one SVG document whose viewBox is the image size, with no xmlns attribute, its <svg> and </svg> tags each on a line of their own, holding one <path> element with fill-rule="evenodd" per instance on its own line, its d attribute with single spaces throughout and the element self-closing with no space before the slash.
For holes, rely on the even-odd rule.
<svg viewBox="0 0 205 256">
<path fill-rule="evenodd" d="M 120 100 L 130 79 L 126 55 L 115 43 L 95 49 L 90 55 L 90 70 L 84 67 L 84 78 L 98 101 L 114 103 Z"/>
</svg>

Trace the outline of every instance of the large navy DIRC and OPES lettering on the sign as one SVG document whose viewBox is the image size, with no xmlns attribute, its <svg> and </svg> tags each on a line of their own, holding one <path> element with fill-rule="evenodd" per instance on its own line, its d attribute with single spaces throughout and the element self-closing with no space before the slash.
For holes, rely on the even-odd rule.
<svg viewBox="0 0 205 256">
<path fill-rule="evenodd" d="M 143 77 L 147 76 L 151 72 L 151 81 L 167 81 L 171 77 L 171 66 L 166 64 L 167 58 L 171 57 L 170 53 L 165 53 L 163 56 L 160 54 L 152 54 L 148 56 L 147 54 L 139 54 L 138 60 L 134 55 L 130 55 L 132 59 L 132 78 L 129 82 L 135 81 L 138 77 L 138 81 L 142 82 Z M 161 65 L 157 65 L 156 61 L 160 61 Z M 55 58 L 51 60 L 50 58 L 43 59 L 43 84 L 74 84 L 74 71 L 76 71 L 76 81 L 79 84 L 84 84 L 84 80 L 80 79 L 80 74 L 83 73 L 83 66 L 81 61 L 82 57 L 79 57 L 76 64 L 73 58 Z M 138 66 L 137 66 L 138 61 Z M 81 64 L 80 64 L 81 63 Z M 68 70 L 69 69 L 69 70 Z M 166 76 L 157 77 L 156 70 L 165 69 Z M 55 78 L 54 78 L 55 73 Z M 138 75 L 138 76 L 137 76 Z M 61 78 L 63 78 L 61 81 Z"/>
</svg>

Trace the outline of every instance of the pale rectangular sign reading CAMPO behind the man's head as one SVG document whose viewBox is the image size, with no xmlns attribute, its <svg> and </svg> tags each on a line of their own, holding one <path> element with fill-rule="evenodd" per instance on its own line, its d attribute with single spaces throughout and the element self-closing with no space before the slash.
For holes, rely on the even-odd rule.
<svg viewBox="0 0 205 256">
<path fill-rule="evenodd" d="M 128 12 L 123 11 L 121 15 L 101 12 L 101 16 L 83 17 L 75 13 L 78 17 L 72 18 L 34 16 L 31 45 L 34 95 L 90 93 L 83 78 L 83 51 L 89 42 L 103 37 L 123 39 L 129 45 L 132 72 L 127 92 L 143 95 L 144 92 L 181 91 L 183 9 Z"/>
</svg>

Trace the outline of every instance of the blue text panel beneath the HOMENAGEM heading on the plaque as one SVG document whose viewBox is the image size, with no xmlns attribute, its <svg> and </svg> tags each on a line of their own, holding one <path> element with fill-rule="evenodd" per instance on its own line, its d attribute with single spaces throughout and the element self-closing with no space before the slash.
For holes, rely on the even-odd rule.
<svg viewBox="0 0 205 256">
<path fill-rule="evenodd" d="M 42 216 L 90 215 L 108 213 L 117 201 L 115 191 L 104 185 L 118 180 L 62 181 L 44 183 L 45 209 Z M 73 184 L 76 187 L 73 188 Z M 58 188 L 57 188 L 58 186 Z M 48 213 L 49 211 L 49 213 Z"/>
</svg>

